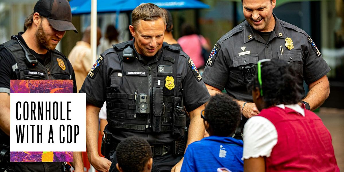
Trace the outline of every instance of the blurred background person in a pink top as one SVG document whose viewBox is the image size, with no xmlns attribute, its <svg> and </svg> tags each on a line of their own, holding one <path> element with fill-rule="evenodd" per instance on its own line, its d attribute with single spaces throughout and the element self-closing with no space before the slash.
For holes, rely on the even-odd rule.
<svg viewBox="0 0 344 172">
<path fill-rule="evenodd" d="M 197 35 L 195 29 L 190 24 L 184 23 L 182 25 L 182 37 L 178 39 L 179 45 L 183 51 L 190 56 L 196 68 L 201 68 L 205 65 L 202 56 L 202 47 L 209 51 L 211 48 L 202 35 Z"/>
</svg>

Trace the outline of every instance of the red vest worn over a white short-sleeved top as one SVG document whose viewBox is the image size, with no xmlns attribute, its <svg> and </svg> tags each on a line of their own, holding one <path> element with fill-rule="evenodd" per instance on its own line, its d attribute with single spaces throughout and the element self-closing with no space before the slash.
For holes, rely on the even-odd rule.
<svg viewBox="0 0 344 172">
<path fill-rule="evenodd" d="M 259 116 L 275 125 L 277 144 L 265 159 L 266 171 L 321 171 L 339 172 L 330 132 L 312 111 L 305 117 L 285 108 L 271 107 Z"/>
</svg>

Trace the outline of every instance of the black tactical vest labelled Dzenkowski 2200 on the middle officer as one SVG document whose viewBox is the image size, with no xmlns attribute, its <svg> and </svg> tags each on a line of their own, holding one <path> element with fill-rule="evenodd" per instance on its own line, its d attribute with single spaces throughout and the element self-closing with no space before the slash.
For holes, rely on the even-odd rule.
<svg viewBox="0 0 344 172">
<path fill-rule="evenodd" d="M 122 72 L 112 73 L 110 87 L 106 88 L 109 127 L 184 136 L 182 78 L 176 74 L 179 49 L 164 43 L 158 62 L 144 65 L 136 58 L 123 61 L 123 50 L 132 48 L 132 41 L 113 46 L 117 56 L 111 53 L 107 58 L 120 58 Z"/>
</svg>

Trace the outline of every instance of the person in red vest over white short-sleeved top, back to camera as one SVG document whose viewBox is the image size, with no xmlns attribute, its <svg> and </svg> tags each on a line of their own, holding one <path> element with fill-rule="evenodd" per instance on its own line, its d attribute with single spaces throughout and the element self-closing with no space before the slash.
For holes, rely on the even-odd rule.
<svg viewBox="0 0 344 172">
<path fill-rule="evenodd" d="M 244 127 L 244 171 L 337 172 L 330 132 L 321 119 L 298 105 L 294 65 L 261 60 L 250 84 L 260 114 Z"/>
</svg>

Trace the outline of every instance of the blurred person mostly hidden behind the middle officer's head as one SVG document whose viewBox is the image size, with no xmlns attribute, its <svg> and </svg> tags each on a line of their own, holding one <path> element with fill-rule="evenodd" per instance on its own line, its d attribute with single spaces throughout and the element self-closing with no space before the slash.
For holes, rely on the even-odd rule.
<svg viewBox="0 0 344 172">
<path fill-rule="evenodd" d="M 178 42 L 174 39 L 172 35 L 172 29 L 173 29 L 173 19 L 172 15 L 169 10 L 166 10 L 163 8 L 163 11 L 165 12 L 165 19 L 166 19 L 166 30 L 164 34 L 164 42 L 167 42 L 168 44 L 177 46 L 180 48 L 181 51 L 182 47 L 178 44 Z"/>
</svg>

